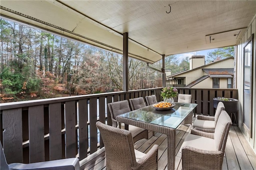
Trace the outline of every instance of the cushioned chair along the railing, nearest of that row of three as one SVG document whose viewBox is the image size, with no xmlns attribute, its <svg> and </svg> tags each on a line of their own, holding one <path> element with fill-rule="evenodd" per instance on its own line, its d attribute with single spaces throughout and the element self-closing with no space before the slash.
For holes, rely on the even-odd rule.
<svg viewBox="0 0 256 170">
<path fill-rule="evenodd" d="M 118 127 L 118 128 L 124 128 L 124 124 L 118 123 L 116 121 L 116 117 L 118 115 L 121 115 L 123 113 L 127 113 L 127 112 L 131 111 L 128 101 L 124 100 L 124 101 L 116 101 L 113 103 L 108 103 L 108 108 L 109 108 L 111 119 L 112 119 L 112 126 Z M 120 124 L 120 127 L 118 124 Z M 140 128 L 140 127 L 135 127 L 132 125 L 129 125 L 128 129 L 132 133 L 132 138 L 133 138 L 134 142 L 137 142 L 138 140 L 143 139 L 143 138 L 148 139 L 148 130 L 146 130 L 144 128 Z"/>
</svg>

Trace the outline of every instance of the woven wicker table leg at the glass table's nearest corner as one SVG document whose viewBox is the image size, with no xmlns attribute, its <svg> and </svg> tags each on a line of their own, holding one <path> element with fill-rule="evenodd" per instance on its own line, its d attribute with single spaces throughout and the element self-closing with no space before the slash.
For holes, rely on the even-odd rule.
<svg viewBox="0 0 256 170">
<path fill-rule="evenodd" d="M 170 128 L 167 134 L 167 169 L 174 170 L 175 168 L 175 140 L 176 140 L 176 130 Z"/>
</svg>

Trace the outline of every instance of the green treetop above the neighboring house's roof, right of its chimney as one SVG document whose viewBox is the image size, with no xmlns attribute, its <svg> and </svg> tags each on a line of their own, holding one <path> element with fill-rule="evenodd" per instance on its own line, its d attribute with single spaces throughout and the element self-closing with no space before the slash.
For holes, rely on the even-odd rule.
<svg viewBox="0 0 256 170">
<path fill-rule="evenodd" d="M 206 56 L 206 63 L 218 61 L 228 57 L 234 57 L 234 46 L 222 47 L 208 52 Z"/>
</svg>

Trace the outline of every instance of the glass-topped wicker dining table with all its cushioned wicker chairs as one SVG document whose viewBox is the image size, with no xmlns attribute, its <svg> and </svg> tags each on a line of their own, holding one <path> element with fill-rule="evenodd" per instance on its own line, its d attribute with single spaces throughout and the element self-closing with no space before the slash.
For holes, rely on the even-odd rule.
<svg viewBox="0 0 256 170">
<path fill-rule="evenodd" d="M 100 134 L 104 135 L 102 139 L 106 149 L 106 168 L 120 168 L 120 164 L 122 164 L 124 169 L 148 169 L 149 167 L 150 169 L 157 169 L 158 146 L 154 145 L 147 154 L 134 150 L 133 147 L 134 142 L 142 138 L 148 138 L 147 130 L 152 130 L 167 135 L 167 168 L 173 170 L 176 156 L 174 140 L 176 128 L 182 122 L 184 123 L 186 118 L 191 117 L 192 119 L 193 110 L 197 106 L 197 104 L 191 103 L 191 95 L 179 95 L 178 98 L 181 98 L 181 96 L 186 99 L 178 100 L 175 107 L 168 111 L 154 109 L 153 105 L 157 103 L 154 95 L 146 97 L 148 106 L 145 105 L 142 97 L 130 99 L 132 111 L 128 101 L 109 103 L 108 107 L 110 108 L 113 127 L 100 122 L 97 122 L 96 125 Z M 185 138 L 179 151 L 182 156 L 182 168 L 184 170 L 222 168 L 226 140 L 232 125 L 231 119 L 224 109 L 223 103 L 219 102 L 214 117 L 198 115 L 191 133 Z M 121 145 L 120 140 L 124 140 Z M 122 154 L 128 155 L 123 156 Z M 116 162 L 119 162 L 119 164 L 116 164 Z"/>
</svg>

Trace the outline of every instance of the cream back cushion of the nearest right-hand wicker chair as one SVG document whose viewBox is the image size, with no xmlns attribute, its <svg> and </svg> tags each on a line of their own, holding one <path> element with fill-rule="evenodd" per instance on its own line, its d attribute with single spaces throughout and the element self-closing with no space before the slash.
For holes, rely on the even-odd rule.
<svg viewBox="0 0 256 170">
<path fill-rule="evenodd" d="M 216 124 L 215 132 L 214 132 L 214 141 L 215 141 L 215 148 L 216 150 L 220 150 L 223 138 L 224 138 L 224 133 L 226 130 L 226 125 L 228 123 L 232 123 L 228 113 L 226 111 L 221 111 L 222 113 L 219 116 L 219 119 Z"/>
</svg>

